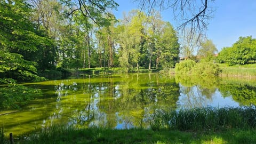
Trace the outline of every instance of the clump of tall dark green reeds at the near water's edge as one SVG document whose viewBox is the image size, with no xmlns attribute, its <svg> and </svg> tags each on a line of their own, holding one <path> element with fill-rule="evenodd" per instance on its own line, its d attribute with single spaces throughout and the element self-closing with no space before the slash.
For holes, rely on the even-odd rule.
<svg viewBox="0 0 256 144">
<path fill-rule="evenodd" d="M 179 111 L 158 110 L 150 123 L 152 129 L 181 131 L 219 131 L 225 129 L 251 129 L 256 127 L 256 109 L 246 108 L 194 108 Z"/>
</svg>

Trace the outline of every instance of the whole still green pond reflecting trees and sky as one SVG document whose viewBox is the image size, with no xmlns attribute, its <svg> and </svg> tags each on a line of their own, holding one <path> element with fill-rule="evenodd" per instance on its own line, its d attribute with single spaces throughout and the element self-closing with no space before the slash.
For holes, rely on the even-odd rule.
<svg viewBox="0 0 256 144">
<path fill-rule="evenodd" d="M 238 107 L 256 103 L 256 80 L 169 77 L 158 73 L 82 76 L 23 84 L 43 95 L 0 115 L 6 133 L 25 135 L 63 124 L 113 129 L 149 127 L 155 110 Z M 9 111 L 2 110 L 0 114 Z"/>
</svg>

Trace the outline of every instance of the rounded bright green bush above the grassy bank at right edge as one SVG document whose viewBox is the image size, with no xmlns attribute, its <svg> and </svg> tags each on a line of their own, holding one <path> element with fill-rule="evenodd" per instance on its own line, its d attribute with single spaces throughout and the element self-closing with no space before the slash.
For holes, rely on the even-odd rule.
<svg viewBox="0 0 256 144">
<path fill-rule="evenodd" d="M 218 55 L 220 63 L 228 65 L 245 65 L 256 61 L 256 39 L 251 36 L 239 37 L 231 47 L 225 47 Z"/>
</svg>

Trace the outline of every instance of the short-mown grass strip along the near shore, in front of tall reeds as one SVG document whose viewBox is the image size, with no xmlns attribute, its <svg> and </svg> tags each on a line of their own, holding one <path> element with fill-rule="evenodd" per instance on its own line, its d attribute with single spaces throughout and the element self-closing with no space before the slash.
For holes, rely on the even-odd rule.
<svg viewBox="0 0 256 144">
<path fill-rule="evenodd" d="M 0 139 L 1 140 L 1 139 Z M 7 143 L 6 140 L 2 141 Z M 256 143 L 256 130 L 232 129 L 219 132 L 182 132 L 173 130 L 111 130 L 52 127 L 15 143 Z"/>
</svg>

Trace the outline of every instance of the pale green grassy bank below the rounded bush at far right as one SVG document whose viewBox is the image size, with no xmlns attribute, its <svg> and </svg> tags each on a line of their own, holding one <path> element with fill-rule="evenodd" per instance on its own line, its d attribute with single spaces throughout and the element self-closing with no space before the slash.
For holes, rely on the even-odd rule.
<svg viewBox="0 0 256 144">
<path fill-rule="evenodd" d="M 256 77 L 256 63 L 250 65 L 227 66 L 220 65 L 221 76 L 227 77 Z"/>
</svg>

